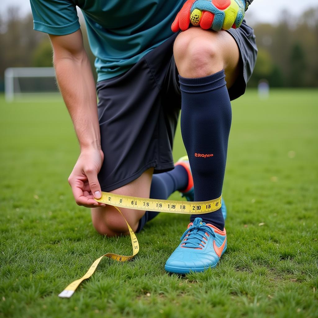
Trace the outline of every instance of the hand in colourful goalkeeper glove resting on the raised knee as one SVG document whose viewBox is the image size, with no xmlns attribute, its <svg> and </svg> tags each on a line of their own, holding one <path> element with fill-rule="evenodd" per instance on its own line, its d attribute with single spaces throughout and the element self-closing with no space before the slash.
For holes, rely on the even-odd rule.
<svg viewBox="0 0 318 318">
<path fill-rule="evenodd" d="M 214 31 L 238 28 L 244 19 L 244 0 L 188 0 L 178 12 L 171 30 L 177 32 L 193 25 Z"/>
</svg>

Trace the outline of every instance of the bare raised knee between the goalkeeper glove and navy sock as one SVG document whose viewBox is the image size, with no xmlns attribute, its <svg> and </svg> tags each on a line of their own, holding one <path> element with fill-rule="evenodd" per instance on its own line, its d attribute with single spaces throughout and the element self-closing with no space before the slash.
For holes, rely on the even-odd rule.
<svg viewBox="0 0 318 318">
<path fill-rule="evenodd" d="M 211 31 L 190 28 L 181 32 L 174 43 L 173 54 L 179 74 L 198 78 L 224 68 L 217 36 Z"/>
</svg>

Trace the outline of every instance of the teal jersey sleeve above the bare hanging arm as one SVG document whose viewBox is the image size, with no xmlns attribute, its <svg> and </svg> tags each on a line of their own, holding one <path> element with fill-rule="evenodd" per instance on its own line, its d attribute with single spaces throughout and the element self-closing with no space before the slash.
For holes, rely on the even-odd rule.
<svg viewBox="0 0 318 318">
<path fill-rule="evenodd" d="M 34 30 L 66 35 L 80 27 L 76 5 L 71 0 L 30 0 Z"/>
</svg>

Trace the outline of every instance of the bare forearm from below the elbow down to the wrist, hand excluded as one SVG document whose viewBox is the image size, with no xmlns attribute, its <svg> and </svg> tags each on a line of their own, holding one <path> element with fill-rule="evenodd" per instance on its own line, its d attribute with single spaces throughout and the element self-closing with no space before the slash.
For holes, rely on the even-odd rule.
<svg viewBox="0 0 318 318">
<path fill-rule="evenodd" d="M 81 149 L 100 149 L 95 83 L 85 51 L 53 57 L 59 89 L 71 115 Z"/>
</svg>

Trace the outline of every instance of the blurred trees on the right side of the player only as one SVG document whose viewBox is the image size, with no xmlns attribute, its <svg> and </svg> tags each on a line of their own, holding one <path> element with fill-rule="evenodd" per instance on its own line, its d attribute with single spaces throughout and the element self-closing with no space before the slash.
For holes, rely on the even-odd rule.
<svg viewBox="0 0 318 318">
<path fill-rule="evenodd" d="M 287 11 L 278 24 L 256 24 L 259 49 L 249 86 L 267 79 L 270 86 L 318 86 L 318 7 L 298 20 Z"/>
</svg>

